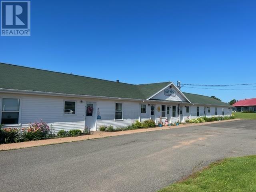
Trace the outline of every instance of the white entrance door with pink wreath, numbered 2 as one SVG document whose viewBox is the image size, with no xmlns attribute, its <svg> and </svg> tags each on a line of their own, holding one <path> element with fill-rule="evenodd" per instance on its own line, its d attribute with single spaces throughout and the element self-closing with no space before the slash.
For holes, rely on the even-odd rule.
<svg viewBox="0 0 256 192">
<path fill-rule="evenodd" d="M 85 127 L 96 131 L 96 102 L 86 102 L 85 106 Z"/>
</svg>

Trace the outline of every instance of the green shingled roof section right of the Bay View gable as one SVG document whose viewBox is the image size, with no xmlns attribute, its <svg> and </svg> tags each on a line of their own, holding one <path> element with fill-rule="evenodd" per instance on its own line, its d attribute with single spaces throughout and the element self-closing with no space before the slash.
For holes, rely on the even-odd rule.
<svg viewBox="0 0 256 192">
<path fill-rule="evenodd" d="M 183 94 L 190 100 L 192 103 L 198 103 L 198 104 L 208 104 L 208 105 L 221 105 L 221 106 L 228 106 L 231 107 L 230 104 L 221 102 L 219 100 L 216 100 L 214 98 L 204 96 L 204 95 L 198 95 L 198 94 L 192 94 L 192 93 L 184 93 Z"/>
</svg>

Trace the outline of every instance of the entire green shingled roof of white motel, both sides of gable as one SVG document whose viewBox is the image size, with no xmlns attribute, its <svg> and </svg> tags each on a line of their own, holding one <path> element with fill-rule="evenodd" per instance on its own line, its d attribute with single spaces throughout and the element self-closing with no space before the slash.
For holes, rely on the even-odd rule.
<svg viewBox="0 0 256 192">
<path fill-rule="evenodd" d="M 127 84 L 0 63 L 0 88 L 146 100 L 170 82 Z M 184 93 L 192 103 L 227 105 L 208 96 Z"/>
</svg>

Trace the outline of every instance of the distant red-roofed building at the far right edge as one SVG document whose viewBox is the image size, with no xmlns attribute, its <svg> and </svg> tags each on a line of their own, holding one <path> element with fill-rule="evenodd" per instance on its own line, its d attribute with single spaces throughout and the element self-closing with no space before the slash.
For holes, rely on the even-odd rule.
<svg viewBox="0 0 256 192">
<path fill-rule="evenodd" d="M 243 99 L 232 105 L 235 111 L 253 111 L 256 112 L 256 98 Z"/>
</svg>

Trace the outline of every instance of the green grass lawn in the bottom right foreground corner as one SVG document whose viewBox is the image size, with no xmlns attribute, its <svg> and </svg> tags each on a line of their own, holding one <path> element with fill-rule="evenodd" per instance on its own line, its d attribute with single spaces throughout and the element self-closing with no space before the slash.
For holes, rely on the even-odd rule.
<svg viewBox="0 0 256 192">
<path fill-rule="evenodd" d="M 158 192 L 256 192 L 256 156 L 227 158 Z"/>
</svg>

